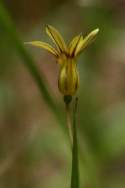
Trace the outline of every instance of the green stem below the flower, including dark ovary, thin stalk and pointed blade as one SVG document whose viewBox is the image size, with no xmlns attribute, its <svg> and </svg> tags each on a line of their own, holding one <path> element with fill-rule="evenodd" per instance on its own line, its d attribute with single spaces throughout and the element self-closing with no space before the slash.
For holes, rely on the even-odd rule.
<svg viewBox="0 0 125 188">
<path fill-rule="evenodd" d="M 67 114 L 67 126 L 69 130 L 69 136 L 72 146 L 71 188 L 79 188 L 79 160 L 78 160 L 78 142 L 77 142 L 77 126 L 76 126 L 78 98 L 75 99 L 75 104 L 73 106 L 73 117 L 71 116 L 71 109 L 70 109 L 71 101 L 72 101 L 71 96 L 64 96 L 64 102 L 66 105 L 66 114 Z"/>
</svg>

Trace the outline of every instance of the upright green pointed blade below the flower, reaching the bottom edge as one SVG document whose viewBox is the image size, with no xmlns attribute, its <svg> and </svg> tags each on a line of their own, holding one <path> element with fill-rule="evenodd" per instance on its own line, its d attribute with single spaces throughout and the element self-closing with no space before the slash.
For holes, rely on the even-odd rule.
<svg viewBox="0 0 125 188">
<path fill-rule="evenodd" d="M 72 172 L 71 172 L 71 188 L 79 188 L 79 159 L 78 159 L 78 141 L 77 141 L 77 103 L 76 98 L 73 108 L 73 146 L 72 146 Z"/>
</svg>

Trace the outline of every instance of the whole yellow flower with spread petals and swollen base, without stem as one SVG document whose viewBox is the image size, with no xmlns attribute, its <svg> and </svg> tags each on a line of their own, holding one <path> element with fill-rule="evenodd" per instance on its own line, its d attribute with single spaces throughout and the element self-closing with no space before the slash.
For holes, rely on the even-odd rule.
<svg viewBox="0 0 125 188">
<path fill-rule="evenodd" d="M 64 96 L 72 96 L 79 86 L 76 57 L 95 39 L 98 32 L 99 29 L 95 29 L 85 38 L 83 38 L 82 34 L 79 34 L 66 45 L 60 33 L 54 27 L 47 25 L 46 33 L 54 42 L 55 48 L 41 41 L 26 42 L 26 44 L 44 48 L 56 57 L 56 61 L 60 65 L 59 90 Z"/>
</svg>

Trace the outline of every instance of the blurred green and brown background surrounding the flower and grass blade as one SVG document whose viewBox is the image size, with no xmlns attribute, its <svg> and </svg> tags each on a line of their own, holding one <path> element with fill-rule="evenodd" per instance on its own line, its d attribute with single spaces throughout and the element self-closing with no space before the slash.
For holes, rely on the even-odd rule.
<svg viewBox="0 0 125 188">
<path fill-rule="evenodd" d="M 56 27 L 67 42 L 100 28 L 78 60 L 80 184 L 124 188 L 125 1 L 4 0 L 3 4 L 22 42 L 49 42 L 46 24 Z M 69 188 L 71 149 L 57 87 L 59 67 L 46 51 L 25 47 L 63 117 L 56 117 L 41 97 L 14 43 L 0 22 L 0 188 Z"/>
</svg>

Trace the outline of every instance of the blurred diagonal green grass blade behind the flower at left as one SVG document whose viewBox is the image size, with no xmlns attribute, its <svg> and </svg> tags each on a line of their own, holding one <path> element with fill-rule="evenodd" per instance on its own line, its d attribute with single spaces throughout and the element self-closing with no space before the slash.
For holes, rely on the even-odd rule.
<svg viewBox="0 0 125 188">
<path fill-rule="evenodd" d="M 4 29 L 6 34 L 12 40 L 12 44 L 14 45 L 20 57 L 23 59 L 24 65 L 27 67 L 27 70 L 32 75 L 36 85 L 38 86 L 40 90 L 42 97 L 44 98 L 46 104 L 49 106 L 51 111 L 54 113 L 59 124 L 61 125 L 64 124 L 62 114 L 60 113 L 61 110 L 59 110 L 59 107 L 57 106 L 52 96 L 50 95 L 50 93 L 52 92 L 48 91 L 47 84 L 45 83 L 45 79 L 44 79 L 44 76 L 42 75 L 42 72 L 39 73 L 31 55 L 24 48 L 24 45 L 16 32 L 15 25 L 13 24 L 2 2 L 0 2 L 0 27 Z"/>
</svg>

